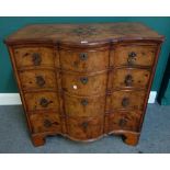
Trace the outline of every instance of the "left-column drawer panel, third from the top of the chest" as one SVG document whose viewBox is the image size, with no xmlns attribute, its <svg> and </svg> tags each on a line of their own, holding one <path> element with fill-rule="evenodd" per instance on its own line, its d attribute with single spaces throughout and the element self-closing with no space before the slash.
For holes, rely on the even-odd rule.
<svg viewBox="0 0 170 170">
<path fill-rule="evenodd" d="M 27 111 L 55 110 L 58 112 L 58 94 L 56 92 L 30 92 L 25 93 Z"/>
</svg>

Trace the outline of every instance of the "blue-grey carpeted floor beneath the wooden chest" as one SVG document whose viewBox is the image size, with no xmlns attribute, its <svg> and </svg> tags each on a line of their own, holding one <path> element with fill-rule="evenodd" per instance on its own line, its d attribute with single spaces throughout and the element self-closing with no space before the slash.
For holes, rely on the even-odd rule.
<svg viewBox="0 0 170 170">
<path fill-rule="evenodd" d="M 46 145 L 31 143 L 21 105 L 0 106 L 0 152 L 4 154 L 161 154 L 170 152 L 170 106 L 148 104 L 139 144 L 127 146 L 121 137 L 107 136 L 82 144 L 61 136 L 48 137 Z"/>
</svg>

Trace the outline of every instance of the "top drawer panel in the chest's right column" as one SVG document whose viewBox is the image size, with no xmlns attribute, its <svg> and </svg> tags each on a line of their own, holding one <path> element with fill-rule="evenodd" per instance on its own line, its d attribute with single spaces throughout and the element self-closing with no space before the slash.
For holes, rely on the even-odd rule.
<svg viewBox="0 0 170 170">
<path fill-rule="evenodd" d="M 120 46 L 111 53 L 111 65 L 151 66 L 156 53 L 156 46 Z"/>
</svg>

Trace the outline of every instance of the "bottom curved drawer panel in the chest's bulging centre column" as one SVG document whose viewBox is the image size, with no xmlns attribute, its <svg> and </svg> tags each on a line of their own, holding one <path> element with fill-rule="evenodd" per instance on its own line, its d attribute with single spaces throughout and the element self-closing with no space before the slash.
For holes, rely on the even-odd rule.
<svg viewBox="0 0 170 170">
<path fill-rule="evenodd" d="M 67 118 L 67 133 L 77 140 L 94 139 L 103 134 L 103 116 L 69 117 Z"/>
</svg>

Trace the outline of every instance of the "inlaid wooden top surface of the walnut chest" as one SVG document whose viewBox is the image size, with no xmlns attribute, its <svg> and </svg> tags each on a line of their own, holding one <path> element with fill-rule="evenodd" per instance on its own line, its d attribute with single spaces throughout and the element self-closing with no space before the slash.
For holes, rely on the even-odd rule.
<svg viewBox="0 0 170 170">
<path fill-rule="evenodd" d="M 97 43 L 118 39 L 158 39 L 163 36 L 141 23 L 34 24 L 5 38 L 5 43 L 50 41 L 60 43 Z"/>
</svg>

